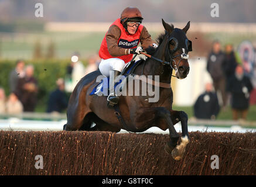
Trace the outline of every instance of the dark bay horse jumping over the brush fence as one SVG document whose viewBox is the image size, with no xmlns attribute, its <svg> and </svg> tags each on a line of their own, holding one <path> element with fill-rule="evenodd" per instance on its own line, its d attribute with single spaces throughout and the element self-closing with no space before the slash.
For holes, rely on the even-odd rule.
<svg viewBox="0 0 256 187">
<path fill-rule="evenodd" d="M 169 65 L 164 65 L 153 58 L 147 58 L 144 63 L 135 68 L 134 74 L 158 75 L 161 84 L 170 85 L 173 70 L 179 79 L 186 78 L 189 73 L 187 53 L 192 51 L 192 42 L 187 39 L 186 32 L 190 22 L 183 29 L 174 28 L 163 19 L 162 24 L 165 33 L 158 37 L 158 48 L 149 47 L 146 51 L 159 60 L 169 62 Z M 115 110 L 107 107 L 107 96 L 90 95 L 98 84 L 96 82 L 98 75 L 101 75 L 100 71 L 91 72 L 83 77 L 74 88 L 67 108 L 67 124 L 64 125 L 64 130 L 118 132 L 125 129 L 115 116 Z M 185 153 L 186 144 L 189 143 L 187 114 L 183 111 L 172 110 L 172 88 L 155 86 L 155 89 L 159 89 L 157 102 L 149 102 L 148 99 L 152 96 L 148 94 L 146 96 L 120 96 L 118 105 L 127 126 L 126 130 L 142 132 L 153 126 L 162 130 L 169 129 L 170 141 L 166 144 L 165 150 L 172 154 L 175 160 L 180 160 Z M 95 126 L 92 126 L 93 122 Z M 182 124 L 182 137 L 179 145 L 179 134 L 174 128 L 178 122 Z"/>
</svg>

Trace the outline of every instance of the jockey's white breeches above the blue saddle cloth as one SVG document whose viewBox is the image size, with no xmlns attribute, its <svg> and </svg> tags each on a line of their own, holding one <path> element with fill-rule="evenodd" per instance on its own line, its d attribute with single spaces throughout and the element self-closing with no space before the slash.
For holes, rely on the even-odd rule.
<svg viewBox="0 0 256 187">
<path fill-rule="evenodd" d="M 120 58 L 108 58 L 106 60 L 101 59 L 100 65 L 98 65 L 101 74 L 105 75 L 106 77 L 109 77 L 110 71 L 113 70 L 122 72 L 122 70 L 124 70 L 124 67 L 125 62 Z"/>
</svg>

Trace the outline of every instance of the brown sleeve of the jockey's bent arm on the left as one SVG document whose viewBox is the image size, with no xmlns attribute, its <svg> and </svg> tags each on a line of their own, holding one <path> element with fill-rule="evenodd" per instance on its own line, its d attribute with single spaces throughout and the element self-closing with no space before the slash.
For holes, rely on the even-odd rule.
<svg viewBox="0 0 256 187">
<path fill-rule="evenodd" d="M 106 34 L 108 52 L 113 57 L 119 57 L 129 53 L 129 49 L 118 47 L 118 39 L 120 36 L 121 30 L 116 25 L 112 25 Z"/>
</svg>

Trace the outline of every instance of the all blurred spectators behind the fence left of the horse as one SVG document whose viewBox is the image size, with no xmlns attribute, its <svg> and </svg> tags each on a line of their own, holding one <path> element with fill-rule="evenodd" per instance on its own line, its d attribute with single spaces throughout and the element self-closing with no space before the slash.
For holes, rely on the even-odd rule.
<svg viewBox="0 0 256 187">
<path fill-rule="evenodd" d="M 74 59 L 74 56 L 77 58 Z M 67 108 L 67 92 L 72 92 L 77 82 L 84 75 L 98 69 L 98 57 L 91 56 L 88 65 L 84 67 L 75 53 L 67 67 L 66 81 L 64 78 L 56 80 L 56 89 L 49 93 L 46 112 L 61 113 Z M 71 82 L 71 86 L 69 83 Z M 17 60 L 15 67 L 9 72 L 9 95 L 0 87 L 0 114 L 16 115 L 23 112 L 35 112 L 39 85 L 34 77 L 32 64 L 25 65 L 25 61 Z"/>
</svg>

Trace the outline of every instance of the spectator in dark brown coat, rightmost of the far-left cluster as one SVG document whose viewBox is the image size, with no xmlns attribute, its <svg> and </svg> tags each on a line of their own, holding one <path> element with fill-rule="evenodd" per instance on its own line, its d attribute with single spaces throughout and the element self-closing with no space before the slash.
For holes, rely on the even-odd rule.
<svg viewBox="0 0 256 187">
<path fill-rule="evenodd" d="M 25 70 L 25 77 L 19 79 L 16 93 L 22 102 L 24 112 L 33 112 L 37 102 L 37 81 L 33 65 L 28 65 Z"/>
</svg>

